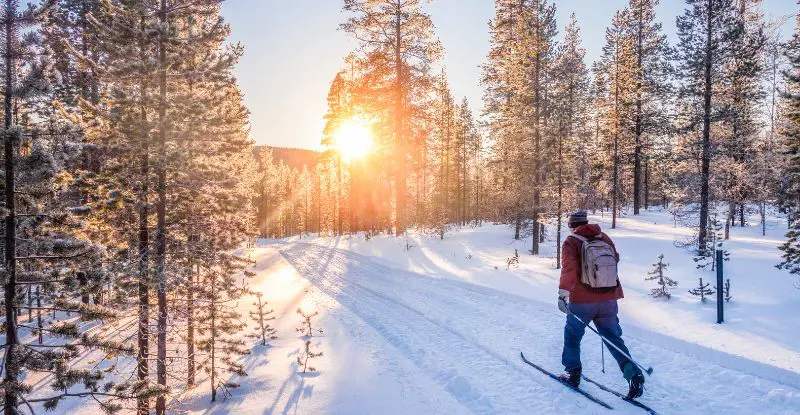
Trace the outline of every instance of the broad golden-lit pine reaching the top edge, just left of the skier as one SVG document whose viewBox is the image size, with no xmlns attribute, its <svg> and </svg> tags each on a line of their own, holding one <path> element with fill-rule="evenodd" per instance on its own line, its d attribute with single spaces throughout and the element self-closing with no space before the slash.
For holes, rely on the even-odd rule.
<svg viewBox="0 0 800 415">
<path fill-rule="evenodd" d="M 497 0 L 491 23 L 491 49 L 484 65 L 486 112 L 496 137 L 504 220 L 519 239 L 524 221 L 532 224 L 531 254 L 544 236 L 544 184 L 553 128 L 552 91 L 557 34 L 555 5 L 546 0 Z"/>
</svg>

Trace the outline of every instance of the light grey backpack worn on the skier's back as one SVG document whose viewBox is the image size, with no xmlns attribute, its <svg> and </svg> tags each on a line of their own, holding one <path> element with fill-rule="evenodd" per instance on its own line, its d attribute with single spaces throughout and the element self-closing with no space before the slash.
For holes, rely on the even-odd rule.
<svg viewBox="0 0 800 415">
<path fill-rule="evenodd" d="M 617 286 L 617 257 L 614 247 L 602 238 L 587 239 L 572 234 L 583 241 L 581 246 L 581 282 L 591 288 L 612 288 Z"/>
</svg>

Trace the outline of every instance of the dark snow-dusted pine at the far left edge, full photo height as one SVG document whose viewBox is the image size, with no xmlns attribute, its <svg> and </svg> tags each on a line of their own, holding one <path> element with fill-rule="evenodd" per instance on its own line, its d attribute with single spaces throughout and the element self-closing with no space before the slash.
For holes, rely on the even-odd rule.
<svg viewBox="0 0 800 415">
<path fill-rule="evenodd" d="M 44 2 L 21 9 L 17 1 L 6 0 L 2 8 L 6 344 L 1 389 L 6 414 L 19 413 L 22 403 L 42 402 L 45 409 L 52 410 L 72 396 L 106 397 L 101 408 L 113 412 L 120 409 L 120 399 L 158 393 L 131 383 L 107 382 L 101 388 L 102 371 L 71 367 L 72 359 L 87 349 L 103 350 L 109 358 L 133 351 L 124 342 L 82 332 L 74 321 L 113 320 L 119 313 L 98 304 L 97 297 L 94 304 L 89 303 L 108 273 L 98 266 L 104 247 L 82 231 L 91 211 L 81 197 L 87 177 L 82 169 L 74 168 L 84 154 L 82 137 L 69 120 L 44 110 L 44 103 L 53 97 L 47 82 L 53 77 L 50 51 L 37 31 L 48 26 L 43 23 L 53 6 L 54 2 Z M 95 268 L 93 272 L 86 271 L 90 267 Z M 25 292 L 29 293 L 27 307 L 23 305 Z M 28 312 L 27 322 L 20 322 L 22 310 Z M 47 323 L 42 321 L 45 310 L 52 312 Z M 34 311 L 37 318 L 32 325 Z M 23 336 L 21 329 L 32 336 Z M 45 335 L 66 341 L 44 345 Z M 55 393 L 25 398 L 31 387 L 24 383 L 24 371 L 52 375 Z M 69 392 L 79 384 L 84 392 Z"/>
</svg>

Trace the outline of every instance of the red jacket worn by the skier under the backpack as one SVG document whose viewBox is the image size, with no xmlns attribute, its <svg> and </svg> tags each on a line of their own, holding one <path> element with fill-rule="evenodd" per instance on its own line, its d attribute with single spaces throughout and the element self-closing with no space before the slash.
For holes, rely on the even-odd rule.
<svg viewBox="0 0 800 415">
<path fill-rule="evenodd" d="M 581 225 L 575 229 L 575 233 L 584 238 L 596 238 L 600 236 L 604 241 L 614 248 L 614 253 L 619 262 L 619 252 L 614 246 L 614 241 L 600 230 L 599 225 Z M 617 286 L 612 288 L 591 288 L 581 282 L 581 247 L 583 241 L 574 237 L 567 237 L 561 249 L 561 280 L 558 288 L 570 292 L 569 301 L 571 303 L 597 303 L 608 300 L 619 300 L 623 297 L 622 285 L 617 281 Z"/>
</svg>

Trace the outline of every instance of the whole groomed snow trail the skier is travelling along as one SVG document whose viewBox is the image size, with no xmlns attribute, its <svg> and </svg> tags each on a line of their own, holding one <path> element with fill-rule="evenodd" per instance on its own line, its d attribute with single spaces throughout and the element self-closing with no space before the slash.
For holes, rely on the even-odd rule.
<svg viewBox="0 0 800 415">
<path fill-rule="evenodd" d="M 519 361 L 522 350 L 544 367 L 560 370 L 564 316 L 554 304 L 389 268 L 330 247 L 294 243 L 278 249 L 300 275 L 371 326 L 472 413 L 608 412 Z M 660 413 L 800 411 L 800 391 L 792 386 L 658 344 L 625 340 L 635 358 L 655 368 L 642 401 Z M 608 353 L 607 373 L 600 373 L 599 340 L 592 333 L 587 331 L 583 346 L 587 375 L 626 390 Z M 616 412 L 642 413 L 597 388 L 585 388 Z"/>
</svg>

